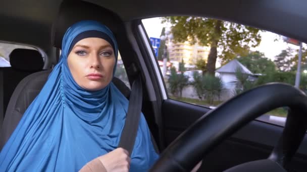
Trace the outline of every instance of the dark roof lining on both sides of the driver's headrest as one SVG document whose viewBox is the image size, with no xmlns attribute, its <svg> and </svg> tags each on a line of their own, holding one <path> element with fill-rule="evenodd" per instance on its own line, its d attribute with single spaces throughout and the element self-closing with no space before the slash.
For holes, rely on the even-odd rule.
<svg viewBox="0 0 307 172">
<path fill-rule="evenodd" d="M 71 1 L 71 0 L 70 0 Z M 61 0 L 11 0 L 2 5 L 0 40 L 19 42 L 48 49 L 50 28 Z M 161 16 L 202 16 L 268 30 L 307 42 L 307 1 L 297 0 L 168 0 L 101 1 L 86 0 L 117 14 L 123 21 Z M 27 34 L 24 34 L 27 33 Z"/>
</svg>

